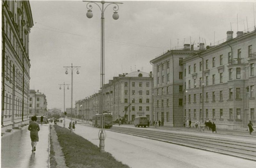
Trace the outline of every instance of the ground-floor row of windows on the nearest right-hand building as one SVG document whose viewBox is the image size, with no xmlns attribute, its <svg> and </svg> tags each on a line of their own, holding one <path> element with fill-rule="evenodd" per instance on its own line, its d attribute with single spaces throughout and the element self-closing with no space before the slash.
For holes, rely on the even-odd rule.
<svg viewBox="0 0 256 168">
<path fill-rule="evenodd" d="M 228 114 L 229 114 L 228 119 L 233 120 L 234 119 L 233 108 L 229 108 Z M 251 114 L 250 119 L 254 120 L 254 108 L 250 109 L 250 114 Z M 196 119 L 196 116 L 197 116 L 196 109 L 194 109 L 192 115 L 193 115 L 193 118 Z M 186 117 L 186 109 L 185 109 L 185 117 Z M 203 117 L 202 109 L 200 109 L 199 118 L 202 118 L 202 117 Z M 209 117 L 210 117 L 209 109 L 205 109 L 205 117 L 204 118 L 209 118 Z M 219 117 L 220 119 L 223 119 L 223 109 L 220 108 L 219 116 L 216 116 L 216 110 L 212 109 L 211 117 L 212 117 L 212 119 L 216 119 L 217 117 Z M 191 109 L 188 109 L 188 118 L 191 118 Z M 236 108 L 236 119 L 239 119 L 239 120 L 241 119 L 241 108 Z"/>
</svg>

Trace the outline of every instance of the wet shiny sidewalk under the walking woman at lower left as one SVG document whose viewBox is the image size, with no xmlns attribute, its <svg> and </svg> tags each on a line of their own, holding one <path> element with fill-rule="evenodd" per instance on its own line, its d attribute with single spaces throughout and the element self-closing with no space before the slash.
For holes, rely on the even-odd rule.
<svg viewBox="0 0 256 168">
<path fill-rule="evenodd" d="M 39 142 L 33 153 L 28 126 L 1 138 L 2 168 L 49 167 L 49 124 L 39 124 L 39 126 Z"/>
</svg>

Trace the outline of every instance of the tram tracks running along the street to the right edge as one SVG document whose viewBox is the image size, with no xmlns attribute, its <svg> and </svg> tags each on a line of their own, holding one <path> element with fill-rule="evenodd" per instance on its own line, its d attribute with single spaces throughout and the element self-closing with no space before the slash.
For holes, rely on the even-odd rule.
<svg viewBox="0 0 256 168">
<path fill-rule="evenodd" d="M 152 140 L 159 140 L 256 161 L 256 143 L 254 142 L 125 127 L 112 127 L 108 129 L 108 131 L 140 136 Z"/>
</svg>

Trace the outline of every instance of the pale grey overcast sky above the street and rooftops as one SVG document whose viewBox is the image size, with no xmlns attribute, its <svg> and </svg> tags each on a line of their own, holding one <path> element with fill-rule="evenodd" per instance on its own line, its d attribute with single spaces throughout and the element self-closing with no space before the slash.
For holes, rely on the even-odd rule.
<svg viewBox="0 0 256 168">
<path fill-rule="evenodd" d="M 119 1 L 120 2 L 120 1 Z M 250 2 L 122 1 L 119 19 L 112 18 L 114 5 L 105 11 L 105 83 L 122 73 L 140 69 L 149 73 L 149 61 L 171 47 L 223 42 L 226 32 L 254 27 Z M 63 87 L 71 84 L 71 71 L 63 66 L 81 66 L 73 74 L 73 107 L 100 90 L 100 9 L 92 4 L 93 17 L 86 17 L 82 1 L 30 1 L 34 26 L 29 38 L 30 89 L 46 95 L 48 109 L 63 110 Z M 247 17 L 247 20 L 246 20 Z M 256 17 L 256 16 L 255 16 Z M 231 23 L 231 26 L 230 26 Z M 225 41 L 225 40 L 224 40 Z M 66 108 L 71 107 L 71 86 L 65 90 Z"/>
</svg>

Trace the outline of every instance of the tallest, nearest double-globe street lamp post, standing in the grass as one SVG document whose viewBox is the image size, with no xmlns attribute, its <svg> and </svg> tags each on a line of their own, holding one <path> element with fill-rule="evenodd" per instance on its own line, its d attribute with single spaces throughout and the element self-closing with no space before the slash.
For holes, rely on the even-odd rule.
<svg viewBox="0 0 256 168">
<path fill-rule="evenodd" d="M 115 11 L 114 14 L 113 14 L 113 19 L 117 20 L 119 18 L 119 15 L 116 11 L 118 11 L 119 9 L 119 6 L 118 4 L 123 4 L 123 3 L 118 3 L 118 2 L 105 2 L 105 1 L 83 1 L 83 2 L 88 2 L 86 4 L 86 8 L 88 9 L 87 13 L 86 13 L 86 16 L 88 18 L 92 18 L 93 14 L 92 14 L 92 5 L 91 3 L 93 4 L 96 4 L 99 8 L 100 8 L 100 11 L 101 11 L 101 50 L 100 50 L 100 53 L 101 53 L 101 63 L 100 63 L 100 69 L 101 69 L 101 84 L 100 84 L 100 88 L 101 88 L 101 102 L 100 102 L 100 110 L 101 110 L 101 132 L 100 132 L 100 135 L 99 135 L 99 139 L 100 139 L 100 152 L 105 152 L 105 144 L 104 144 L 104 140 L 106 138 L 106 133 L 103 132 L 103 84 L 104 84 L 104 70 L 105 70 L 105 67 L 104 67 L 104 60 L 105 60 L 105 45 L 104 45 L 104 12 L 106 10 L 106 8 L 110 5 L 110 4 L 114 4 L 114 8 L 113 10 Z M 102 4 L 102 7 L 100 7 L 99 3 Z M 106 7 L 104 7 L 104 4 L 107 3 L 108 5 Z M 88 6 L 88 4 L 90 4 Z M 117 8 L 117 9 L 116 9 Z"/>
</svg>

